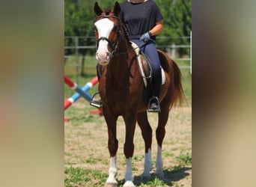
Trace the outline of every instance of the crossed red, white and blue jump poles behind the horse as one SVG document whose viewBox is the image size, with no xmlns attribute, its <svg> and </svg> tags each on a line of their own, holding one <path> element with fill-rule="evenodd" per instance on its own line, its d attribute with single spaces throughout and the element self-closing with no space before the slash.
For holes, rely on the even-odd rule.
<svg viewBox="0 0 256 187">
<path fill-rule="evenodd" d="M 64 79 L 68 80 L 68 77 L 67 78 L 65 78 L 65 77 L 67 77 L 67 76 L 64 76 Z M 70 84 L 72 86 L 71 82 L 69 82 L 68 84 Z M 84 87 L 82 87 L 82 88 L 79 88 L 78 86 L 76 86 L 76 88 L 73 87 L 73 88 L 75 88 L 75 91 L 77 91 L 77 93 L 74 93 L 73 96 L 70 96 L 70 98 L 67 99 L 67 101 L 64 103 L 64 110 L 66 110 L 68 107 L 70 107 L 70 105 L 72 105 L 73 102 L 76 102 L 76 100 L 79 99 L 81 95 L 84 96 L 85 99 L 87 99 L 88 101 L 91 101 L 91 95 L 89 93 L 87 93 L 87 91 L 89 91 L 94 85 L 96 85 L 97 82 L 98 82 L 98 78 L 97 78 L 97 76 L 94 76 L 94 78 L 91 79 L 91 81 L 88 82 Z M 74 85 L 75 85 L 75 83 L 74 83 Z"/>
</svg>

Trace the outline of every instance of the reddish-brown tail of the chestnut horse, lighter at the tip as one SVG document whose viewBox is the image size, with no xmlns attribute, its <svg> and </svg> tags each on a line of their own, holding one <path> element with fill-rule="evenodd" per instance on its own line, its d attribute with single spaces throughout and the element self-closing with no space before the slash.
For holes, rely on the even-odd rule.
<svg viewBox="0 0 256 187">
<path fill-rule="evenodd" d="M 180 68 L 177 66 L 177 64 L 172 61 L 172 72 L 173 72 L 173 85 L 174 88 L 173 89 L 173 97 L 171 99 L 171 105 L 170 105 L 170 110 L 173 106 L 175 105 L 182 105 L 184 99 L 186 99 L 186 96 L 184 94 L 183 91 L 183 87 L 182 87 L 182 75 L 180 72 Z"/>
</svg>

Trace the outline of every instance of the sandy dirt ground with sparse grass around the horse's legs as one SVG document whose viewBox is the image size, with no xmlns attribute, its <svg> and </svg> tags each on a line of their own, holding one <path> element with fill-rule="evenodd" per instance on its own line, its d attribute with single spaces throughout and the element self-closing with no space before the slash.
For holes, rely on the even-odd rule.
<svg viewBox="0 0 256 187">
<path fill-rule="evenodd" d="M 64 124 L 65 167 L 87 168 L 97 171 L 109 171 L 109 150 L 107 147 L 107 128 L 104 117 L 90 114 L 95 108 L 88 107 L 88 102 L 74 103 L 76 116 L 72 114 L 73 109 L 65 111 L 65 117 L 69 121 Z M 84 109 L 85 108 L 85 109 Z M 70 110 L 70 111 L 69 111 Z M 156 122 L 157 114 L 148 113 L 149 121 L 153 129 L 152 161 L 155 171 L 156 163 Z M 125 157 L 124 157 L 124 120 L 118 118 L 118 180 L 124 180 Z M 178 156 L 181 154 L 192 154 L 192 108 L 173 108 L 166 125 L 165 139 L 162 145 L 162 159 L 167 184 L 172 181 L 171 186 L 192 186 L 192 166 L 180 168 L 173 172 L 179 165 Z M 141 129 L 135 129 L 135 151 L 132 158 L 132 172 L 135 184 L 140 183 L 144 165 L 144 141 L 141 137 Z M 90 162 L 91 161 L 91 162 Z"/>
</svg>

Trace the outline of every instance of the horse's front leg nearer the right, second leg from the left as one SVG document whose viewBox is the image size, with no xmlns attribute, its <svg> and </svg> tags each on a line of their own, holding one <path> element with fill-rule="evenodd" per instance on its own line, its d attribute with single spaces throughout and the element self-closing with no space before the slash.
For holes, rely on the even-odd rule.
<svg viewBox="0 0 256 187">
<path fill-rule="evenodd" d="M 131 111 L 135 111 L 132 110 Z M 136 113 L 130 112 L 130 114 L 124 116 L 124 122 L 126 126 L 126 136 L 124 143 L 124 155 L 127 158 L 127 170 L 125 174 L 124 187 L 133 187 L 133 175 L 132 175 L 132 156 L 134 152 L 133 137 L 136 125 Z"/>
</svg>

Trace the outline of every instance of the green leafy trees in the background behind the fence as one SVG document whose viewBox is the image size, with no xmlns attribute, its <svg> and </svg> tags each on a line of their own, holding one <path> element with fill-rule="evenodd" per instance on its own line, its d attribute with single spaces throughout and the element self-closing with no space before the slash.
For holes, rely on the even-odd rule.
<svg viewBox="0 0 256 187">
<path fill-rule="evenodd" d="M 119 3 L 126 0 L 118 1 Z M 170 46 L 171 44 L 189 45 L 190 41 L 187 38 L 180 36 L 189 36 L 192 30 L 192 0 L 154 0 L 159 6 L 159 9 L 164 17 L 164 30 L 159 34 L 157 40 L 158 45 Z M 94 36 L 94 14 L 95 1 L 89 0 L 65 0 L 64 13 L 64 34 L 65 36 Z M 98 0 L 100 7 L 112 8 L 115 1 Z M 162 38 L 161 38 L 162 37 Z M 79 45 L 85 44 L 93 46 L 94 38 L 85 38 L 79 40 Z M 65 46 L 73 46 L 74 39 L 66 38 Z M 92 53 L 93 49 L 87 49 Z M 66 49 L 65 54 L 73 53 L 72 49 Z M 85 49 L 79 52 L 86 52 Z M 189 54 L 189 49 L 180 48 L 180 55 Z"/>
</svg>

